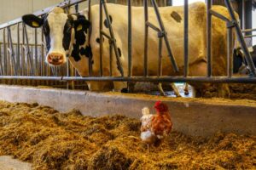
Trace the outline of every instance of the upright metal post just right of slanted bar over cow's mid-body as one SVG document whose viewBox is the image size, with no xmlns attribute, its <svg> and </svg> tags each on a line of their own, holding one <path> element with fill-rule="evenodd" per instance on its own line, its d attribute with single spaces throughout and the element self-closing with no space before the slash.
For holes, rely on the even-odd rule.
<svg viewBox="0 0 256 170">
<path fill-rule="evenodd" d="M 184 77 L 189 74 L 189 1 L 184 0 Z"/>
</svg>

